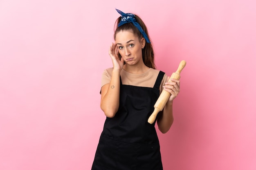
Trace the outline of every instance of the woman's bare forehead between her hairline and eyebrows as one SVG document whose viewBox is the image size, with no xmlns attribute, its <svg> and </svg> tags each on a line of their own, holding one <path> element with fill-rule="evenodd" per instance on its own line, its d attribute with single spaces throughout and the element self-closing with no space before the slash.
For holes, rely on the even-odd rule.
<svg viewBox="0 0 256 170">
<path fill-rule="evenodd" d="M 119 31 L 115 37 L 116 43 L 125 44 L 130 40 L 139 41 L 139 37 L 131 30 Z"/>
</svg>

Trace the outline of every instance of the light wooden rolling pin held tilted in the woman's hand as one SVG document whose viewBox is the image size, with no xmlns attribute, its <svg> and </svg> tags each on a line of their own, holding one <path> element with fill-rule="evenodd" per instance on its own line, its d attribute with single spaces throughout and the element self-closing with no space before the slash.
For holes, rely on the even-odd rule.
<svg viewBox="0 0 256 170">
<path fill-rule="evenodd" d="M 171 75 L 168 82 L 171 81 L 172 78 L 179 80 L 180 79 L 180 72 L 182 71 L 182 69 L 185 66 L 186 66 L 186 61 L 184 61 L 184 60 L 180 61 L 180 65 L 179 65 L 177 71 L 174 72 Z M 151 116 L 148 118 L 148 123 L 153 124 L 155 122 L 155 118 L 157 117 L 157 113 L 164 109 L 164 106 L 166 105 L 166 102 L 168 101 L 170 96 L 171 96 L 171 93 L 169 93 L 165 90 L 162 91 L 159 98 L 157 99 L 157 102 L 155 102 L 155 105 L 154 105 L 155 109 L 154 109 L 153 113 L 151 114 Z"/>
</svg>

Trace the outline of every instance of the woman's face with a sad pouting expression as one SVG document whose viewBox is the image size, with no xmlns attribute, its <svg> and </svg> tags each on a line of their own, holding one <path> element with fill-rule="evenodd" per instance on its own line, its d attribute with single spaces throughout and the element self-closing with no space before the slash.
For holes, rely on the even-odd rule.
<svg viewBox="0 0 256 170">
<path fill-rule="evenodd" d="M 143 63 L 142 48 L 145 45 L 145 39 L 135 35 L 132 31 L 120 31 L 115 36 L 118 52 L 126 64 L 135 65 Z"/>
</svg>

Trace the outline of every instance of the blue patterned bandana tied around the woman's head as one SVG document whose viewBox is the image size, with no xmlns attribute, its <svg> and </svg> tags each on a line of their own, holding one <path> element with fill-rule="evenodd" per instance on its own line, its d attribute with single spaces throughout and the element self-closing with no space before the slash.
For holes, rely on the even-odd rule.
<svg viewBox="0 0 256 170">
<path fill-rule="evenodd" d="M 146 41 L 148 43 L 150 43 L 149 39 L 148 39 L 148 36 L 146 35 L 146 33 L 143 31 L 143 29 L 141 28 L 141 26 L 139 25 L 139 23 L 136 21 L 135 19 L 135 15 L 132 14 L 132 13 L 123 13 L 122 11 L 116 9 L 117 12 L 121 15 L 121 21 L 119 22 L 118 26 L 121 26 L 123 24 L 126 24 L 126 23 L 129 23 L 129 22 L 132 22 L 132 24 L 134 26 L 136 26 L 136 28 L 138 28 L 139 32 L 141 32 L 142 36 L 146 39 Z"/>
</svg>

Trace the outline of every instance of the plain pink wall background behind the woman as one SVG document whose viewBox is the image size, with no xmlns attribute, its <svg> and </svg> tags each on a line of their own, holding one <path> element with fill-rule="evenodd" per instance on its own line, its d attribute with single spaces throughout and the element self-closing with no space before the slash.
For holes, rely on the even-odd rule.
<svg viewBox="0 0 256 170">
<path fill-rule="evenodd" d="M 89 170 L 119 14 L 148 26 L 157 69 L 181 60 L 165 170 L 256 169 L 254 0 L 1 0 L 0 169 Z M 159 131 L 158 131 L 159 132 Z"/>
</svg>

